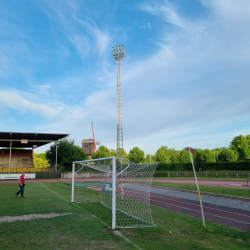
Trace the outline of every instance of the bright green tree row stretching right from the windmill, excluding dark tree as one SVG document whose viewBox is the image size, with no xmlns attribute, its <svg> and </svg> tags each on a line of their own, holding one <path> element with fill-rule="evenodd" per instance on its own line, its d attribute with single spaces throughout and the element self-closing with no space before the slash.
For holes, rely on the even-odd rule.
<svg viewBox="0 0 250 250">
<path fill-rule="evenodd" d="M 193 151 L 193 150 L 192 150 Z M 121 156 L 120 151 L 118 156 Z M 250 135 L 239 135 L 234 137 L 229 147 L 215 148 L 215 149 L 194 149 L 191 153 L 194 162 L 235 162 L 250 160 Z M 92 154 L 93 159 L 116 156 L 114 149 L 109 150 L 105 146 L 99 147 L 96 153 Z M 149 163 L 163 162 L 163 163 L 191 163 L 190 153 L 187 149 L 175 150 L 167 146 L 161 146 L 154 155 L 145 155 L 144 151 L 138 147 L 132 148 L 127 154 L 123 149 L 123 157 L 128 158 L 133 162 Z"/>
</svg>

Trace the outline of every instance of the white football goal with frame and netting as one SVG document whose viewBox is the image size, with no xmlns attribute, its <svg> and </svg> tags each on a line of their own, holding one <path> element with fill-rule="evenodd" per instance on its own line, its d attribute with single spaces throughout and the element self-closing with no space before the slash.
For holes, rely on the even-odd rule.
<svg viewBox="0 0 250 250">
<path fill-rule="evenodd" d="M 74 162 L 71 202 L 100 202 L 113 229 L 154 227 L 150 189 L 156 166 L 118 157 Z"/>
</svg>

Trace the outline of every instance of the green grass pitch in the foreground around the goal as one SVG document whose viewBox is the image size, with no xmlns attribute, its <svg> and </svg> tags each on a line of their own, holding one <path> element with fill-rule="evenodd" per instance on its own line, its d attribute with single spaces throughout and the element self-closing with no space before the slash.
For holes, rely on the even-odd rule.
<svg viewBox="0 0 250 250">
<path fill-rule="evenodd" d="M 157 183 L 159 184 L 159 183 Z M 133 242 L 106 226 L 110 211 L 100 203 L 70 203 L 70 186 L 27 182 L 25 199 L 17 183 L 0 182 L 0 218 L 29 214 L 70 215 L 0 223 L 0 249 L 249 249 L 250 233 L 152 206 L 154 228 L 122 229 Z M 170 234 L 169 231 L 172 233 Z"/>
</svg>

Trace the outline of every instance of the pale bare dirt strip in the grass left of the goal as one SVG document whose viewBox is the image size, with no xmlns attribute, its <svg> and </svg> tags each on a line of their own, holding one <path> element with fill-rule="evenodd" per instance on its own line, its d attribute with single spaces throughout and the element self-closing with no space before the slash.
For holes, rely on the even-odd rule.
<svg viewBox="0 0 250 250">
<path fill-rule="evenodd" d="M 50 214 L 28 214 L 28 215 L 21 215 L 21 216 L 2 216 L 0 217 L 0 223 L 2 222 L 14 222 L 19 220 L 34 220 L 34 219 L 48 219 L 54 218 L 58 216 L 65 216 L 72 213 L 50 213 Z"/>
</svg>

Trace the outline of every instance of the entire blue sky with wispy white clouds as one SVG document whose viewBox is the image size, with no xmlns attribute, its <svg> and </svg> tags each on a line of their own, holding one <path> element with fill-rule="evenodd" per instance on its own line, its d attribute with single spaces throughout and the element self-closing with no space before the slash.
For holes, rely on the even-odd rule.
<svg viewBox="0 0 250 250">
<path fill-rule="evenodd" d="M 250 134 L 249 0 L 0 0 L 0 131 L 213 149 Z M 50 145 L 41 147 L 44 152 Z"/>
</svg>

